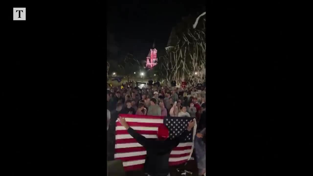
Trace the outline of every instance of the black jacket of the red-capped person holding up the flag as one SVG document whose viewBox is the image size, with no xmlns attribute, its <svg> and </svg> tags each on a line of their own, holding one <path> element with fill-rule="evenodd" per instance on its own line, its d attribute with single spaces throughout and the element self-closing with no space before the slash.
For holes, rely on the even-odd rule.
<svg viewBox="0 0 313 176">
<path fill-rule="evenodd" d="M 146 173 L 152 176 L 156 174 L 167 176 L 169 173 L 168 159 L 172 149 L 177 147 L 179 142 L 188 135 L 188 131 L 185 130 L 179 137 L 172 140 L 167 138 L 165 141 L 158 141 L 156 139 L 147 139 L 131 127 L 127 131 L 138 143 L 146 148 L 147 155 L 144 169 Z"/>
</svg>

